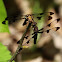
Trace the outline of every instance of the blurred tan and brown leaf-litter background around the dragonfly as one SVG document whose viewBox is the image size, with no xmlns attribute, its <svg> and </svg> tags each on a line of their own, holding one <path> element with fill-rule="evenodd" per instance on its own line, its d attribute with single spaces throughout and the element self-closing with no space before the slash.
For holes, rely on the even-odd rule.
<svg viewBox="0 0 62 62">
<path fill-rule="evenodd" d="M 62 0 L 3 0 L 7 16 L 9 18 L 9 33 L 0 33 L 0 40 L 12 54 L 15 53 L 18 44 L 27 26 L 23 26 L 24 20 L 16 19 L 26 14 L 36 14 L 42 12 L 54 12 L 52 20 L 47 20 L 47 15 L 43 15 L 41 20 L 35 19 L 38 29 L 46 26 L 51 21 L 60 18 L 60 22 L 53 23 L 53 27 L 60 27 L 60 30 L 49 34 L 38 34 L 36 45 L 33 39 L 29 43 L 29 48 L 24 48 L 15 58 L 15 62 L 62 62 Z M 51 26 L 52 28 L 52 26 Z M 45 28 L 45 29 L 48 29 Z M 30 36 L 32 30 L 27 35 Z M 2 36 L 3 35 L 3 36 Z M 27 40 L 24 40 L 25 43 Z"/>
</svg>

